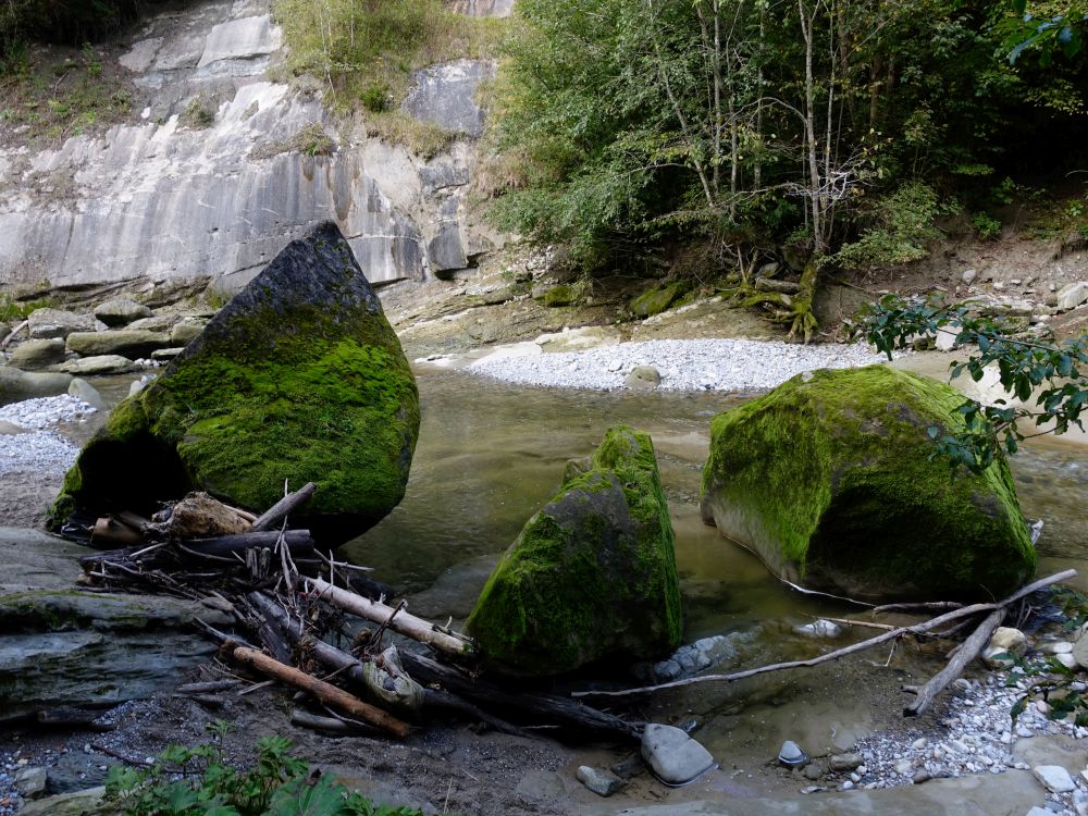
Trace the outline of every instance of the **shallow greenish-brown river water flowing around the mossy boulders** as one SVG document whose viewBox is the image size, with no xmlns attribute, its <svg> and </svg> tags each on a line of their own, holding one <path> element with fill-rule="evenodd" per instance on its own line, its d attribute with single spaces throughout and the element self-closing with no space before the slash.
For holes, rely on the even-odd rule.
<svg viewBox="0 0 1088 816">
<path fill-rule="evenodd" d="M 780 584 L 700 520 L 709 420 L 743 396 L 526 388 L 434 370 L 418 380 L 423 421 L 407 495 L 343 551 L 418 595 L 418 614 L 463 618 L 498 555 L 554 494 L 567 459 L 591 453 L 618 422 L 654 440 L 676 529 L 689 640 L 746 621 L 833 610 Z M 1086 454 L 1088 447 L 1048 438 L 1014 457 L 1013 472 L 1026 516 L 1046 520 L 1040 573 L 1079 565 L 1088 589 Z"/>
</svg>

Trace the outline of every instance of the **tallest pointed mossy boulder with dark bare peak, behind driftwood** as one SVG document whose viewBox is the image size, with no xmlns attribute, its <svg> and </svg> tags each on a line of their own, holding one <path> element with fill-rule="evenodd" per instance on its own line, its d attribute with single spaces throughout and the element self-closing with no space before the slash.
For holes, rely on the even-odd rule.
<svg viewBox="0 0 1088 816">
<path fill-rule="evenodd" d="M 293 517 L 323 543 L 363 532 L 404 496 L 419 431 L 416 380 L 381 302 L 332 223 L 290 243 L 164 370 L 110 416 L 53 506 L 60 526 L 200 490 Z"/>
</svg>

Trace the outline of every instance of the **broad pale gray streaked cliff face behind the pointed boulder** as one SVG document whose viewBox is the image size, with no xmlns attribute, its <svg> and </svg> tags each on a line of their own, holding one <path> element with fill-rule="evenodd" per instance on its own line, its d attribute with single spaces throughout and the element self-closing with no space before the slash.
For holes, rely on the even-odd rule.
<svg viewBox="0 0 1088 816">
<path fill-rule="evenodd" d="M 323 220 L 375 284 L 463 265 L 473 247 L 502 239 L 478 238 L 485 227 L 465 206 L 477 162 L 468 141 L 424 162 L 360 126 L 332 156 L 293 148 L 330 115 L 320 97 L 268 81 L 282 46 L 268 12 L 268 0 L 206 0 L 151 18 L 120 57 L 137 88 L 154 91 L 144 115 L 57 149 L 0 149 L 0 283 L 211 279 L 230 294 Z M 472 89 L 490 71 L 437 71 L 452 85 L 412 110 L 479 133 Z M 197 98 L 214 113 L 208 127 L 182 121 Z"/>
</svg>

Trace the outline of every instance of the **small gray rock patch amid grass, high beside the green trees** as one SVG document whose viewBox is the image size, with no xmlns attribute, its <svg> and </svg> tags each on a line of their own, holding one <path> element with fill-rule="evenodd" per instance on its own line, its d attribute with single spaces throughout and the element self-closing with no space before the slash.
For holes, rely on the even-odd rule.
<svg viewBox="0 0 1088 816">
<path fill-rule="evenodd" d="M 494 75 L 494 65 L 477 60 L 454 60 L 423 69 L 417 72 L 405 99 L 405 112 L 421 122 L 479 137 L 484 112 L 475 103 L 475 91 L 482 81 Z"/>
</svg>

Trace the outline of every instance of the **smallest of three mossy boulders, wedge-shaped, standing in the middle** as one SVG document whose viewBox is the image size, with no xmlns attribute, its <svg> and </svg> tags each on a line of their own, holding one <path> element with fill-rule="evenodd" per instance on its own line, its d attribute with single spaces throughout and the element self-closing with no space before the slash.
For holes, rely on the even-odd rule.
<svg viewBox="0 0 1088 816">
<path fill-rule="evenodd" d="M 682 634 L 672 526 L 648 435 L 606 434 L 526 524 L 468 619 L 485 664 L 554 676 L 653 659 Z"/>
</svg>

